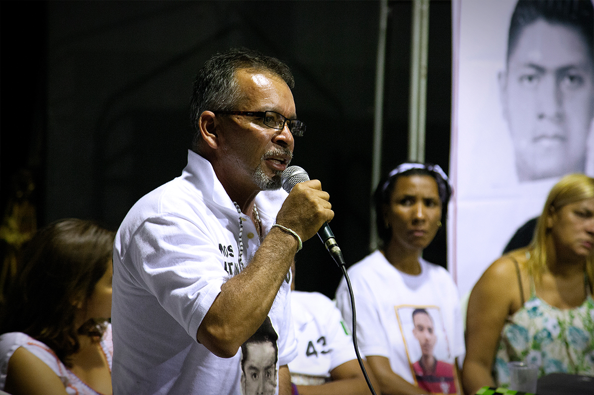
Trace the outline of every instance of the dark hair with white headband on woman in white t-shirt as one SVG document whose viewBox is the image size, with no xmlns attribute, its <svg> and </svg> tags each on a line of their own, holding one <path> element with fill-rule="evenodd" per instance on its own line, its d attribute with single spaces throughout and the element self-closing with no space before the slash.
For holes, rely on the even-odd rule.
<svg viewBox="0 0 594 395">
<path fill-rule="evenodd" d="M 380 181 L 375 189 L 375 226 L 381 242 L 385 246 L 392 237 L 391 228 L 384 226 L 384 206 L 390 203 L 390 196 L 396 186 L 396 181 L 402 176 L 429 176 L 437 183 L 437 190 L 441 200 L 441 222 L 447 218 L 447 204 L 450 201 L 451 186 L 448 178 L 439 165 L 430 163 L 403 163 L 390 171 L 386 179 Z"/>
</svg>

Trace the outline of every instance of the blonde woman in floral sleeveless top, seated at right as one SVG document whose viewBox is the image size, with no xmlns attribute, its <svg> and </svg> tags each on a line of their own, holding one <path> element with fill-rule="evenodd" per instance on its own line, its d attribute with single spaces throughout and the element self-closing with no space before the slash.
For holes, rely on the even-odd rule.
<svg viewBox="0 0 594 395">
<path fill-rule="evenodd" d="M 594 179 L 552 187 L 529 247 L 492 263 L 468 303 L 463 385 L 507 386 L 507 362 L 594 375 Z"/>
</svg>

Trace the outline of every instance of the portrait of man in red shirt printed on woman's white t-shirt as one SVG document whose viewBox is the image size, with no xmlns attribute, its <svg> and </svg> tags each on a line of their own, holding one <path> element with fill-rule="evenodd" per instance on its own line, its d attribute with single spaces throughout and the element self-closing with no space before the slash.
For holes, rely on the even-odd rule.
<svg viewBox="0 0 594 395">
<path fill-rule="evenodd" d="M 416 385 L 432 394 L 456 394 L 454 358 L 441 311 L 435 306 L 400 306 L 396 315 Z"/>
</svg>

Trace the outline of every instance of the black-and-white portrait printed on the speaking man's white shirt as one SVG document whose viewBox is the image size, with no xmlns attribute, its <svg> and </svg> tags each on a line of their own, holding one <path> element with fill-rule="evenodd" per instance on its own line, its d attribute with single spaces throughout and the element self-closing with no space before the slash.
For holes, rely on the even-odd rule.
<svg viewBox="0 0 594 395">
<path fill-rule="evenodd" d="M 276 393 L 279 336 L 270 317 L 241 345 L 242 395 L 274 395 Z"/>
</svg>

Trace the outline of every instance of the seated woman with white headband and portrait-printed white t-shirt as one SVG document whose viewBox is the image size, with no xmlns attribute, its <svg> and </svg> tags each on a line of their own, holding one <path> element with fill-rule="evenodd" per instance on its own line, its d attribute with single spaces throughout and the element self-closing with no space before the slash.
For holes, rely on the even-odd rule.
<svg viewBox="0 0 594 395">
<path fill-rule="evenodd" d="M 453 364 L 464 353 L 458 291 L 447 270 L 421 257 L 450 194 L 438 165 L 396 167 L 375 192 L 383 245 L 349 267 L 359 350 L 383 394 L 459 392 Z M 352 325 L 344 278 L 336 301 Z"/>
</svg>

